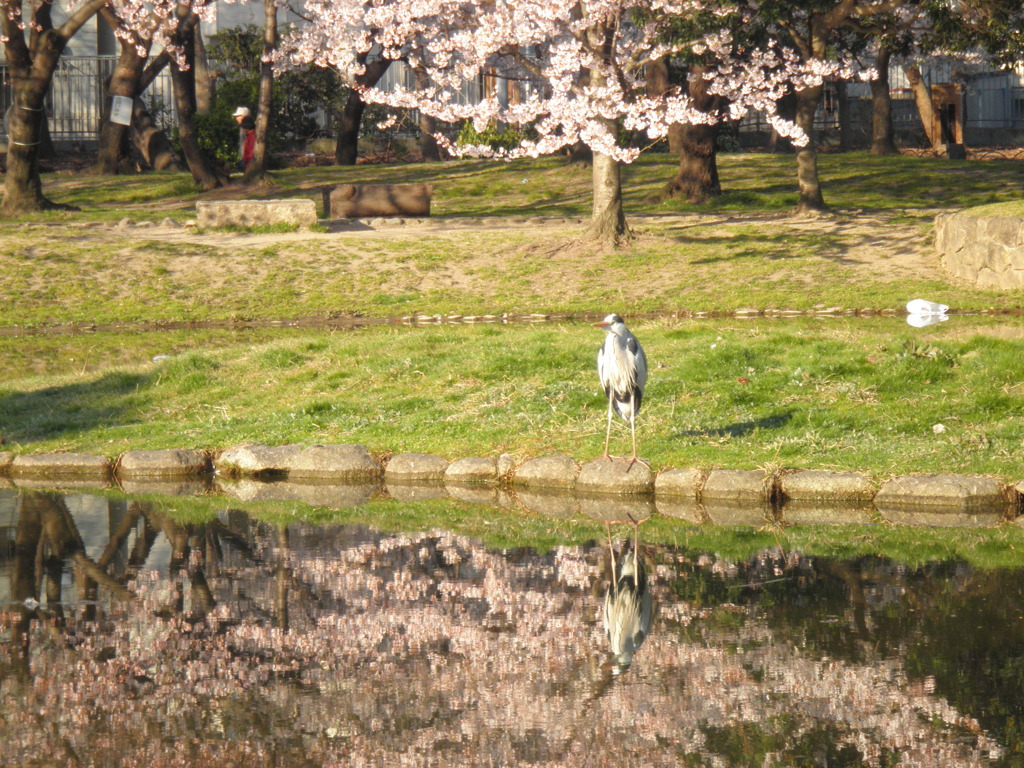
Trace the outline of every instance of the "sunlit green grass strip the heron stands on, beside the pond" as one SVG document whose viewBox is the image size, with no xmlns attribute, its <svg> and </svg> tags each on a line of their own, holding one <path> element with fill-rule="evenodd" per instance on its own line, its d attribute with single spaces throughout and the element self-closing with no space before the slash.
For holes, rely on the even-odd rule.
<svg viewBox="0 0 1024 768">
<path fill-rule="evenodd" d="M 921 330 L 899 318 L 647 321 L 634 331 L 651 368 L 640 452 L 655 469 L 1024 476 L 1019 333 L 997 319 Z M 379 454 L 588 460 L 604 439 L 600 341 L 586 324 L 22 338 L 0 424 L 17 452 L 361 442 Z M 616 422 L 612 451 L 628 450 Z"/>
</svg>

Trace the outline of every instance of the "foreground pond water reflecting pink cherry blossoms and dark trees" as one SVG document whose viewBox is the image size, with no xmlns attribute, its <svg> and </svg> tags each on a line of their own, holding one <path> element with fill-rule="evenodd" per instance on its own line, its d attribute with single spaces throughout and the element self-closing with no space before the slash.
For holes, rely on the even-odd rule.
<svg viewBox="0 0 1024 768">
<path fill-rule="evenodd" d="M 1024 570 L 209 504 L 0 493 L 0 765 L 1024 764 Z M 634 536 L 626 665 L 602 616 Z"/>
</svg>

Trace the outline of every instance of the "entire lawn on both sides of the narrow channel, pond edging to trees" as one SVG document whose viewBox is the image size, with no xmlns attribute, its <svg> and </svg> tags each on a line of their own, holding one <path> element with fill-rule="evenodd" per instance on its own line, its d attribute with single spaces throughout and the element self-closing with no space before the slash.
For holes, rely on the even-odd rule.
<svg viewBox="0 0 1024 768">
<path fill-rule="evenodd" d="M 571 222 L 361 239 L 155 237 L 111 224 L 190 218 L 186 176 L 48 176 L 51 197 L 83 210 L 0 223 L 0 332 L 8 332 L 0 336 L 0 437 L 18 453 L 354 441 L 453 459 L 508 451 L 585 460 L 601 452 L 605 409 L 594 371 L 600 334 L 585 325 L 212 326 L 614 310 L 651 362 L 639 428 L 655 468 L 1020 479 L 1014 318 L 961 315 L 924 330 L 899 318 L 658 319 L 741 306 L 899 308 L 918 297 L 961 310 L 1021 307 L 1017 294 L 955 285 L 937 265 L 907 266 L 899 253 L 927 251 L 938 211 L 1014 205 L 1024 197 L 1018 164 L 854 154 L 823 155 L 820 165 L 839 214 L 803 221 L 786 215 L 796 202 L 792 157 L 723 156 L 725 194 L 694 208 L 644 202 L 674 173 L 671 158 L 644 156 L 625 174 L 638 238 L 615 251 L 573 244 L 580 225 Z M 306 168 L 274 178 L 273 195 L 315 199 L 319 185 L 341 180 L 431 182 L 434 212 L 446 221 L 579 218 L 590 208 L 589 171 L 559 159 Z M 10 334 L 69 323 L 197 330 Z M 157 355 L 167 356 L 153 362 Z M 945 431 L 937 434 L 938 424 Z M 628 434 L 615 430 L 624 452 Z"/>
</svg>

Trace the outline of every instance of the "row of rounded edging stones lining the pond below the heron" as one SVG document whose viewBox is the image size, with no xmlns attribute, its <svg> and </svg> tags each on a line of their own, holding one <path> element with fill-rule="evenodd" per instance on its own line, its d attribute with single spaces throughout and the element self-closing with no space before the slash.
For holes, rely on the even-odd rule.
<svg viewBox="0 0 1024 768">
<path fill-rule="evenodd" d="M 847 510 L 851 521 L 870 510 L 886 513 L 975 514 L 997 511 L 1015 517 L 1024 500 L 1024 480 L 1008 485 L 991 477 L 955 474 L 894 477 L 881 486 L 852 472 L 824 470 L 667 469 L 655 474 L 637 462 L 597 459 L 580 465 L 569 456 L 549 456 L 518 462 L 505 454 L 497 459 L 469 457 L 449 462 L 429 454 L 399 454 L 381 463 L 364 445 L 239 445 L 211 456 L 200 451 L 131 451 L 112 462 L 85 454 L 13 456 L 0 452 L 0 476 L 17 485 L 93 482 L 116 479 L 129 490 L 139 483 L 159 482 L 168 488 L 188 488 L 197 478 L 216 474 L 219 482 L 237 480 L 253 499 L 276 493 L 264 479 L 338 486 L 379 484 L 386 480 L 395 498 L 424 494 L 494 501 L 513 488 L 519 498 L 559 497 L 566 509 L 585 503 L 623 515 L 645 514 L 657 504 L 670 516 L 689 519 L 748 521 L 768 519 L 773 509 L 793 509 L 800 519 L 813 520 L 823 510 Z M 248 484 L 247 484 L 248 483 Z M 404 489 L 395 492 L 394 488 Z M 435 492 L 429 492 L 433 486 Z M 453 492 L 459 488 L 460 492 Z M 438 490 L 439 489 L 439 490 Z M 460 495 L 461 494 L 461 495 Z M 566 503 L 565 497 L 579 499 Z M 596 500 L 596 501 L 594 501 Z M 310 502 L 314 503 L 314 502 Z M 557 505 L 556 505 L 557 506 Z M 596 513 L 595 513 L 596 514 Z M 613 515 L 605 512 L 603 516 Z M 828 515 L 834 517 L 834 515 Z"/>
</svg>

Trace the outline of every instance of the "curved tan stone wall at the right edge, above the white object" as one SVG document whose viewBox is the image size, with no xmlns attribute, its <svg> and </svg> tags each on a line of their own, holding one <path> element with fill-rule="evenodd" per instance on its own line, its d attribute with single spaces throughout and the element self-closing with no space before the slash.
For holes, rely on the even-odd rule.
<svg viewBox="0 0 1024 768">
<path fill-rule="evenodd" d="M 942 266 L 979 288 L 1024 288 L 1024 219 L 942 213 L 935 217 Z"/>
</svg>

